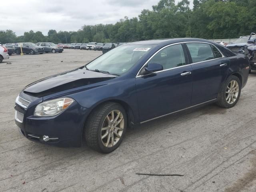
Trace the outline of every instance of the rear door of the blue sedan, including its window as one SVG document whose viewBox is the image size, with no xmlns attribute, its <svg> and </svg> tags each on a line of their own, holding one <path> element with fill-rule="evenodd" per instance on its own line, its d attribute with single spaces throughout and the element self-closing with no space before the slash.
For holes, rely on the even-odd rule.
<svg viewBox="0 0 256 192">
<path fill-rule="evenodd" d="M 186 46 L 193 70 L 192 106 L 217 98 L 228 73 L 228 58 L 213 44 L 191 42 Z"/>
</svg>

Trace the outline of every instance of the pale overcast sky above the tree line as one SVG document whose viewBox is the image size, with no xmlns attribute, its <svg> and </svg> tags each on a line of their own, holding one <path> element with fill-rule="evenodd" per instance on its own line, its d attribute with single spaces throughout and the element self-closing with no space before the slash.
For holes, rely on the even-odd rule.
<svg viewBox="0 0 256 192">
<path fill-rule="evenodd" d="M 77 31 L 84 25 L 116 23 L 137 17 L 159 0 L 1 0 L 0 30 L 23 35 L 30 30 Z M 179 0 L 175 0 L 176 3 Z M 193 6 L 190 0 L 190 7 Z"/>
</svg>

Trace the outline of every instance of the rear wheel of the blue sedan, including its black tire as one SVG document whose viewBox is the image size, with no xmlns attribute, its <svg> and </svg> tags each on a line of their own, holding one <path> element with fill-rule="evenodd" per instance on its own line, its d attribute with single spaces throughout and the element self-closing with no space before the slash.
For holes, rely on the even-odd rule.
<svg viewBox="0 0 256 192">
<path fill-rule="evenodd" d="M 238 88 L 236 88 L 237 86 Z M 232 94 L 230 94 L 229 92 L 231 92 Z M 218 94 L 217 105 L 223 108 L 234 107 L 240 98 L 240 94 L 241 81 L 237 76 L 232 75 L 228 77 L 224 82 L 220 93 Z"/>
</svg>

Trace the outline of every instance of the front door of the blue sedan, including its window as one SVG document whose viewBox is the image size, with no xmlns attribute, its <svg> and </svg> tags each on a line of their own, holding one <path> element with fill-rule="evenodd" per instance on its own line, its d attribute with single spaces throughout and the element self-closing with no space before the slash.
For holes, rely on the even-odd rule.
<svg viewBox="0 0 256 192">
<path fill-rule="evenodd" d="M 191 106 L 192 68 L 185 58 L 181 44 L 168 46 L 148 62 L 160 63 L 164 70 L 138 74 L 136 91 L 140 122 Z"/>
</svg>

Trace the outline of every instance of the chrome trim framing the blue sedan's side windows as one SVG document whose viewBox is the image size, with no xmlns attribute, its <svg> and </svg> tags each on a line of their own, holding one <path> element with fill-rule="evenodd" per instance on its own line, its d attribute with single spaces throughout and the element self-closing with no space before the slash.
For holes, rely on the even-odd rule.
<svg viewBox="0 0 256 192">
<path fill-rule="evenodd" d="M 210 60 L 206 60 L 206 61 L 200 61 L 200 62 L 196 62 L 196 63 L 190 63 L 190 64 L 186 64 L 186 65 L 182 65 L 182 66 L 178 66 L 178 67 L 174 67 L 174 68 L 170 68 L 170 69 L 164 69 L 164 70 L 161 70 L 161 71 L 157 71 L 157 72 L 154 72 L 154 73 L 160 73 L 160 72 L 164 72 L 164 71 L 168 71 L 168 70 L 173 70 L 173 69 L 176 69 L 176 68 L 180 68 L 180 67 L 185 67 L 185 66 L 189 66 L 189 65 L 194 65 L 194 64 L 198 64 L 198 63 L 203 63 L 203 62 L 208 62 L 208 61 L 212 61 L 212 60 L 217 60 L 217 59 L 221 59 L 221 58 L 224 58 L 225 56 L 222 54 L 222 52 L 212 43 L 208 43 L 208 42 L 202 42 L 202 41 L 188 41 L 188 42 L 178 42 L 178 43 L 173 43 L 173 44 L 170 44 L 170 45 L 166 45 L 164 47 L 162 47 L 161 49 L 159 49 L 157 52 L 155 52 L 144 64 L 143 66 L 140 68 L 140 70 L 138 71 L 138 73 L 136 74 L 136 78 L 137 77 L 142 77 L 142 76 L 146 76 L 146 75 L 139 75 L 140 74 L 140 71 L 142 70 L 142 68 L 144 68 L 144 66 L 146 64 L 148 64 L 148 62 L 156 55 L 158 54 L 158 52 L 160 52 L 161 50 L 163 50 L 164 48 L 166 47 L 169 47 L 169 46 L 172 46 L 172 45 L 177 45 L 177 44 L 185 44 L 185 43 L 205 43 L 205 44 L 210 44 L 212 46 L 214 46 L 219 52 L 220 54 L 222 55 L 222 57 L 220 58 L 214 58 L 214 59 L 210 59 Z M 185 53 L 184 53 L 185 54 Z"/>
</svg>

